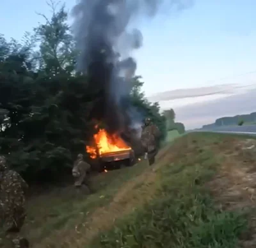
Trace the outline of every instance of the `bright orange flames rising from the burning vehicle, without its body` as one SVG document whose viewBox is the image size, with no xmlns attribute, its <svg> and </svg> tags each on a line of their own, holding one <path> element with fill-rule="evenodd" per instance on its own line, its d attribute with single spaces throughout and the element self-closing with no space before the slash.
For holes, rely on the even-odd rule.
<svg viewBox="0 0 256 248">
<path fill-rule="evenodd" d="M 92 159 L 97 157 L 97 152 L 99 153 L 99 156 L 101 156 L 108 152 L 131 150 L 131 147 L 128 147 L 122 138 L 118 135 L 109 135 L 105 129 L 99 129 L 99 132 L 93 135 L 93 139 L 96 147 L 86 145 L 86 152 L 90 154 Z"/>
</svg>

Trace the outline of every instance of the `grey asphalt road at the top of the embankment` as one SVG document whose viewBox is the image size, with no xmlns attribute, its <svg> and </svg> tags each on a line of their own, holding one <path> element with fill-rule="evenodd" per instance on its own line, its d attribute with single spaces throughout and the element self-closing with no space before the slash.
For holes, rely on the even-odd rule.
<svg viewBox="0 0 256 248">
<path fill-rule="evenodd" d="M 256 125 L 248 126 L 222 126 L 211 129 L 196 129 L 198 132 L 213 132 L 213 133 L 236 133 L 241 135 L 256 136 Z"/>
</svg>

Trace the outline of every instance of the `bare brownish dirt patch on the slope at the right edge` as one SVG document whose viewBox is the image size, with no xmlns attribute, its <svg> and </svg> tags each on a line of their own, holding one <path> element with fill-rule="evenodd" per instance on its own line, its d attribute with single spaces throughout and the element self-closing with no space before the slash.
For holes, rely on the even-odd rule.
<svg viewBox="0 0 256 248">
<path fill-rule="evenodd" d="M 256 141 L 248 139 L 233 142 L 227 149 L 222 147 L 219 152 L 223 153 L 224 161 L 218 175 L 208 184 L 221 209 L 248 210 L 251 213 L 249 231 L 246 237 L 241 237 L 240 245 L 244 248 L 252 248 L 256 244 L 256 159 L 254 159 L 256 150 L 254 145 Z M 244 161 L 250 163 L 244 163 Z"/>
</svg>

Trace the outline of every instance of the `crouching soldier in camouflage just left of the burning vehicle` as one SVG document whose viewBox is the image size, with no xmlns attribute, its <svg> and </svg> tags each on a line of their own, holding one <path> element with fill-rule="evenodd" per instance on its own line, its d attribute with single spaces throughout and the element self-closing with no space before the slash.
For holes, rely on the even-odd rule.
<svg viewBox="0 0 256 248">
<path fill-rule="evenodd" d="M 80 191 L 81 187 L 86 186 L 88 191 L 92 193 L 88 175 L 90 169 L 90 164 L 86 163 L 83 160 L 83 154 L 78 154 L 77 160 L 75 161 L 72 169 L 72 175 L 75 178 L 74 185 L 78 189 L 78 191 Z"/>
</svg>

